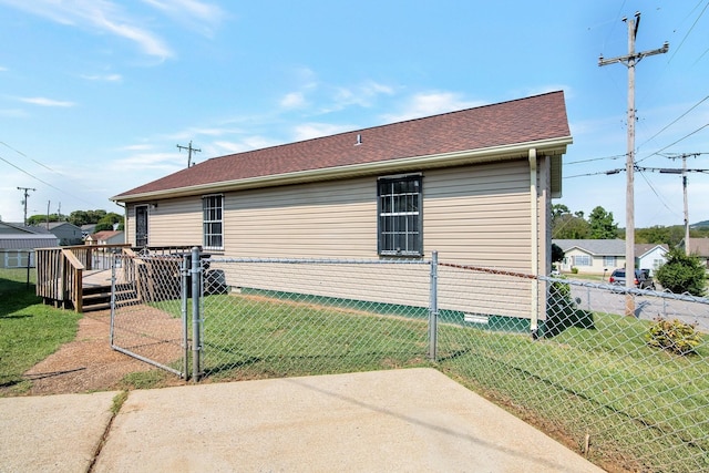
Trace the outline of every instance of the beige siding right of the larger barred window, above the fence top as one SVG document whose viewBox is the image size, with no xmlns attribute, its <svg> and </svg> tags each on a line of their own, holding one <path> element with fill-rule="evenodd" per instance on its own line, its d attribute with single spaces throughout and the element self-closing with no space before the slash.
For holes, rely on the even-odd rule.
<svg viewBox="0 0 709 473">
<path fill-rule="evenodd" d="M 526 163 L 427 173 L 425 253 L 466 265 L 528 271 L 530 177 Z"/>
</svg>

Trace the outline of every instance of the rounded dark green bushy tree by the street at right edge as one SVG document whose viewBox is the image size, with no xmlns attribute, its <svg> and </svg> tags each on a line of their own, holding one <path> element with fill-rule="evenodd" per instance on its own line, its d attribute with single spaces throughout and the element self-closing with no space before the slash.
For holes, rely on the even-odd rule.
<svg viewBox="0 0 709 473">
<path fill-rule="evenodd" d="M 659 267 L 656 278 L 665 289 L 675 294 L 689 292 L 702 297 L 706 292 L 707 273 L 701 259 L 687 256 L 680 248 L 669 251 L 667 263 Z"/>
</svg>

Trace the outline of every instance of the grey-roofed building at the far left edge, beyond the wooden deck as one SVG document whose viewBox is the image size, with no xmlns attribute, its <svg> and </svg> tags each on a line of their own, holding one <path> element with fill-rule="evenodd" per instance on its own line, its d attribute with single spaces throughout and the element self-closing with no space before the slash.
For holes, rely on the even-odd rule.
<svg viewBox="0 0 709 473">
<path fill-rule="evenodd" d="M 0 268 L 25 268 L 34 266 L 34 248 L 58 246 L 51 234 L 37 234 L 22 225 L 0 222 Z"/>
</svg>

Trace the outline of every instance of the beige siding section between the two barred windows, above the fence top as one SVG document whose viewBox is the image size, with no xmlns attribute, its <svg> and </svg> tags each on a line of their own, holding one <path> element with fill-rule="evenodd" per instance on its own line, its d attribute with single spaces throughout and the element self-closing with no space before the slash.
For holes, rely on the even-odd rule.
<svg viewBox="0 0 709 473">
<path fill-rule="evenodd" d="M 225 254 L 376 257 L 376 178 L 359 178 L 228 194 Z"/>
</svg>

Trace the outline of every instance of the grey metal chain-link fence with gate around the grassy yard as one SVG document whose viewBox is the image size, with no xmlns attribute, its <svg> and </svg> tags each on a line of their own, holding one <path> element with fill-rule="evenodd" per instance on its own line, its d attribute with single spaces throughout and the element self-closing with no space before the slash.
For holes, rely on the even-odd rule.
<svg viewBox="0 0 709 473">
<path fill-rule="evenodd" d="M 181 376 L 431 366 L 602 466 L 709 471 L 705 298 L 435 257 L 202 259 L 195 251 L 120 266 L 112 339 Z M 129 280 L 135 289 L 119 296 Z"/>
</svg>

